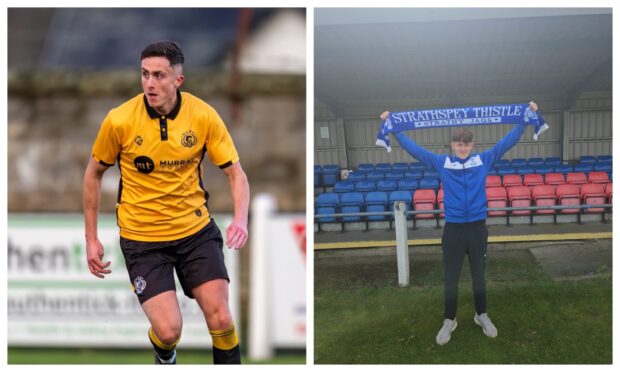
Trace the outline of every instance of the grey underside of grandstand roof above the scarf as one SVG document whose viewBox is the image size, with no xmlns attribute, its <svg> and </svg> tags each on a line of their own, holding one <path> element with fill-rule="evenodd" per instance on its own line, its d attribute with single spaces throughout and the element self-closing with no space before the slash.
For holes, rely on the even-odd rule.
<svg viewBox="0 0 620 372">
<path fill-rule="evenodd" d="M 611 91 L 611 8 L 317 9 L 315 22 L 315 92 L 331 108 L 495 95 L 569 108 Z"/>
</svg>

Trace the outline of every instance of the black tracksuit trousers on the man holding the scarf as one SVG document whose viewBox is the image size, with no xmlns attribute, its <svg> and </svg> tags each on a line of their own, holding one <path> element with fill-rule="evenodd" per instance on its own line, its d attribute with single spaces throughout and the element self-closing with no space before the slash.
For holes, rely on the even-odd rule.
<svg viewBox="0 0 620 372">
<path fill-rule="evenodd" d="M 474 288 L 476 313 L 486 313 L 487 293 L 484 276 L 489 232 L 486 220 L 451 223 L 446 222 L 441 238 L 444 266 L 445 319 L 456 317 L 459 277 L 465 255 L 469 256 Z"/>
</svg>

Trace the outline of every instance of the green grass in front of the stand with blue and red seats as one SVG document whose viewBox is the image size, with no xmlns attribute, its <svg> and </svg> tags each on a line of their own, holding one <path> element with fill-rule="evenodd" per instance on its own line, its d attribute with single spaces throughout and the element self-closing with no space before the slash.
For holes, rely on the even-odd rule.
<svg viewBox="0 0 620 372">
<path fill-rule="evenodd" d="M 438 346 L 435 335 L 443 321 L 438 260 L 414 264 L 407 288 L 398 288 L 392 265 L 378 263 L 388 269 L 375 271 L 367 267 L 364 278 L 359 265 L 357 270 L 330 270 L 336 264 L 325 261 L 322 269 L 322 263 L 315 260 L 316 364 L 612 362 L 610 272 L 555 282 L 527 251 L 490 259 L 488 309 L 498 328 L 498 337 L 491 339 L 473 322 L 465 264 L 458 328 L 447 345 Z"/>
</svg>

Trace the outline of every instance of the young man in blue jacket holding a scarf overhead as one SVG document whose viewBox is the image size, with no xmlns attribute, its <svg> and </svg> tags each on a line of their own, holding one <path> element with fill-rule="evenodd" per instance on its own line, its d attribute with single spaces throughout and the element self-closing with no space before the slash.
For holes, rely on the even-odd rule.
<svg viewBox="0 0 620 372">
<path fill-rule="evenodd" d="M 538 110 L 536 103 L 530 103 L 532 111 Z M 388 118 L 389 112 L 381 114 Z M 519 142 L 526 124 L 517 125 L 493 148 L 480 154 L 472 153 L 473 133 L 457 128 L 452 133 L 454 155 L 435 155 L 418 146 L 403 132 L 394 136 L 411 156 L 427 167 L 435 169 L 443 183 L 446 224 L 441 238 L 444 264 L 444 322 L 437 333 L 436 341 L 445 345 L 456 329 L 456 305 L 458 282 L 465 255 L 469 257 L 476 314 L 474 322 L 482 327 L 489 337 L 497 336 L 497 329 L 487 315 L 485 264 L 487 256 L 488 231 L 486 227 L 487 198 L 486 177 L 495 162 L 506 151 Z"/>
</svg>

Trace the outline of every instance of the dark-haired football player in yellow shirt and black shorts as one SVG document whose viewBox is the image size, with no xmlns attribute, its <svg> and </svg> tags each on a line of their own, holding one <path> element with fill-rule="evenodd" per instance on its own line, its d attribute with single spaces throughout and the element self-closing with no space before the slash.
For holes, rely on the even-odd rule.
<svg viewBox="0 0 620 372">
<path fill-rule="evenodd" d="M 217 112 L 181 93 L 183 52 L 172 41 L 148 45 L 141 55 L 142 89 L 104 119 L 84 174 L 86 255 L 90 272 L 103 278 L 110 262 L 97 237 L 103 173 L 121 172 L 116 204 L 120 242 L 129 278 L 151 328 L 156 364 L 176 364 L 182 319 L 173 270 L 183 292 L 195 298 L 213 338 L 217 364 L 240 363 L 239 341 L 228 307 L 228 273 L 222 235 L 209 216 L 202 184 L 205 153 L 226 174 L 234 218 L 226 245 L 248 238 L 248 180 Z"/>
</svg>

